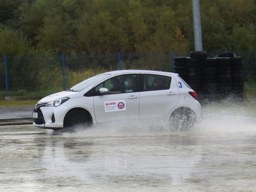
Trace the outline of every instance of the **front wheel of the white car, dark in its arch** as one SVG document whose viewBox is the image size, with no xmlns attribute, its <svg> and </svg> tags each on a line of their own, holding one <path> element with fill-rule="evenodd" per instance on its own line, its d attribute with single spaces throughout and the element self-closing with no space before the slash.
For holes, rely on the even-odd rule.
<svg viewBox="0 0 256 192">
<path fill-rule="evenodd" d="M 74 109 L 69 111 L 64 118 L 64 127 L 74 127 L 74 126 L 91 126 L 92 121 L 89 115 L 82 109 Z"/>
</svg>

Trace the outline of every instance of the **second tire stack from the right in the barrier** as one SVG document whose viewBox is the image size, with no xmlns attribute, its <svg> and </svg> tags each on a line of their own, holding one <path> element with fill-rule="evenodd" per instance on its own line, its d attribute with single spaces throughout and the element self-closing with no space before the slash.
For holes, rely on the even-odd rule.
<svg viewBox="0 0 256 192">
<path fill-rule="evenodd" d="M 230 57 L 217 57 L 219 93 L 229 97 L 232 91 L 232 71 Z"/>
</svg>

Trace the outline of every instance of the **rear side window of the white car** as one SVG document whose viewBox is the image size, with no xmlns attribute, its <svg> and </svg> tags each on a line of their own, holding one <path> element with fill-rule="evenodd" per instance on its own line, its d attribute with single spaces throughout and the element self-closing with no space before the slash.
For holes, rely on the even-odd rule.
<svg viewBox="0 0 256 192">
<path fill-rule="evenodd" d="M 143 91 L 167 90 L 170 88 L 171 80 L 169 76 L 144 74 Z"/>
</svg>

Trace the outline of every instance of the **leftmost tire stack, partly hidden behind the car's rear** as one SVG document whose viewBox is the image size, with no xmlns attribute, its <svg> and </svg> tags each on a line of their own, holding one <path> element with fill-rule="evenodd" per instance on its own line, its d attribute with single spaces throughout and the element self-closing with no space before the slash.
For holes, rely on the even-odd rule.
<svg viewBox="0 0 256 192">
<path fill-rule="evenodd" d="M 174 72 L 187 82 L 187 57 L 174 57 Z"/>
</svg>

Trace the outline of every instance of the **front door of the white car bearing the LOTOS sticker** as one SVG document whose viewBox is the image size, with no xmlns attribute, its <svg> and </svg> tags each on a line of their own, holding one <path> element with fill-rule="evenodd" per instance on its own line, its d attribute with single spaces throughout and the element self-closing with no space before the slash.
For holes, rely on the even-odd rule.
<svg viewBox="0 0 256 192">
<path fill-rule="evenodd" d="M 136 90 L 136 83 L 139 82 L 137 81 L 136 74 L 129 74 L 129 77 L 133 78 L 132 85 L 134 88 L 127 90 L 127 86 L 124 84 L 127 76 L 128 75 L 119 75 L 110 78 L 95 87 L 96 91 L 98 91 L 100 87 L 111 90 L 113 80 L 119 80 L 119 88 L 115 88 L 115 90 L 109 91 L 109 93 L 105 95 L 94 96 L 93 105 L 97 123 L 123 124 L 139 122 L 139 92 Z"/>
</svg>

